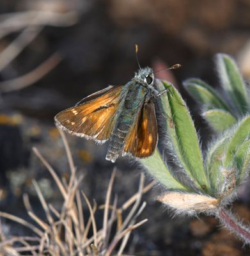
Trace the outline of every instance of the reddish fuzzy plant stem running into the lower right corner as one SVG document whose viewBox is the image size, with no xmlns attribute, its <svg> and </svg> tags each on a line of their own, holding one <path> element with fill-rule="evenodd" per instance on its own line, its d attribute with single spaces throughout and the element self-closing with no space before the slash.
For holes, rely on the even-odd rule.
<svg viewBox="0 0 250 256">
<path fill-rule="evenodd" d="M 240 237 L 246 244 L 250 244 L 250 229 L 242 224 L 241 221 L 237 220 L 233 214 L 226 209 L 219 209 L 216 214 L 216 217 L 219 218 L 221 223 Z"/>
</svg>

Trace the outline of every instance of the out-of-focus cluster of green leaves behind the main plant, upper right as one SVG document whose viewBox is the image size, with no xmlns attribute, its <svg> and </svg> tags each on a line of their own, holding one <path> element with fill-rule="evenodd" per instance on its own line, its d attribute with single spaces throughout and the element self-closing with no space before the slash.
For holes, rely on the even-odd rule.
<svg viewBox="0 0 250 256">
<path fill-rule="evenodd" d="M 201 104 L 201 115 L 210 127 L 223 132 L 249 113 L 250 97 L 235 61 L 227 54 L 217 54 L 216 60 L 220 92 L 197 78 L 184 81 L 184 87 Z"/>
</svg>

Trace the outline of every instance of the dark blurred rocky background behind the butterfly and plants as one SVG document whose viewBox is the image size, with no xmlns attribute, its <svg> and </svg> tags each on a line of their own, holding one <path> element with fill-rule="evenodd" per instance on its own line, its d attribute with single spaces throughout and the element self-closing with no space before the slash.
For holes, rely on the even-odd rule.
<svg viewBox="0 0 250 256">
<path fill-rule="evenodd" d="M 34 195 L 32 179 L 38 181 L 48 200 L 58 202 L 55 185 L 31 148 L 38 147 L 56 171 L 67 177 L 65 150 L 54 127 L 54 115 L 108 84 L 127 83 L 138 68 L 134 44 L 139 45 L 142 67 L 159 70 L 182 64 L 173 72 L 159 72 L 159 78 L 178 86 L 196 128 L 201 136 L 207 133 L 182 81 L 199 77 L 218 86 L 214 63 L 217 52 L 231 54 L 244 78 L 249 79 L 249 17 L 249 0 L 1 0 L 1 211 L 25 216 L 20 199 L 24 192 Z M 75 165 L 84 173 L 84 191 L 103 202 L 114 167 L 104 160 L 106 146 L 67 138 Z M 116 166 L 114 191 L 122 201 L 136 191 L 140 171 L 128 159 L 119 159 Z M 218 228 L 212 218 L 172 220 L 153 202 L 157 193 L 159 188 L 145 196 L 148 206 L 143 216 L 150 220 L 134 232 L 131 253 L 248 255 L 247 249 Z M 35 196 L 33 203 L 39 211 Z M 250 220 L 247 188 L 235 205 L 236 211 Z M 7 230 L 23 232 L 8 221 L 5 224 Z"/>
</svg>

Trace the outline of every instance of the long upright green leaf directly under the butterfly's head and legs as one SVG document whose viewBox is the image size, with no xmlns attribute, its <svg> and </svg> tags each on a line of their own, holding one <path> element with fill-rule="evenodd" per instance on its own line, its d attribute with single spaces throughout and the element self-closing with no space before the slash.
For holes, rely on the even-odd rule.
<svg viewBox="0 0 250 256">
<path fill-rule="evenodd" d="M 180 164 L 194 184 L 202 191 L 207 191 L 208 180 L 203 168 L 198 135 L 189 110 L 172 84 L 163 81 L 157 85 L 160 92 L 164 89 L 168 90 L 160 96 L 160 102 L 166 118 L 166 130 Z"/>
</svg>

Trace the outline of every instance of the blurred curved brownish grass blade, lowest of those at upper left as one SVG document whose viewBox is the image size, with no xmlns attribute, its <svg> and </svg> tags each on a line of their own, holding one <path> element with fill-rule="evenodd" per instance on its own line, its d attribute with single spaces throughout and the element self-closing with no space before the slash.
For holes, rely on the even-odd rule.
<svg viewBox="0 0 250 256">
<path fill-rule="evenodd" d="M 1 82 L 0 92 L 17 91 L 22 88 L 26 88 L 27 86 L 30 86 L 33 83 L 36 83 L 43 76 L 51 72 L 51 70 L 54 69 L 61 62 L 61 60 L 62 57 L 59 54 L 59 52 L 55 52 L 54 54 L 52 54 L 52 56 L 50 56 L 47 60 L 45 60 L 42 64 L 33 69 L 31 72 L 14 79 L 10 79 L 8 81 Z"/>
</svg>

